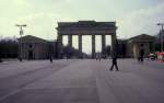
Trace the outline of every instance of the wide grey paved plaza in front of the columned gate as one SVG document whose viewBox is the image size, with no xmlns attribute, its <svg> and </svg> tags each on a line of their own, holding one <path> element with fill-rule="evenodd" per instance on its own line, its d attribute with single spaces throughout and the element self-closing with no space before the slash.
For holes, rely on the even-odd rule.
<svg viewBox="0 0 164 103">
<path fill-rule="evenodd" d="M 164 62 L 119 59 L 4 61 L 0 103 L 164 103 Z"/>
</svg>

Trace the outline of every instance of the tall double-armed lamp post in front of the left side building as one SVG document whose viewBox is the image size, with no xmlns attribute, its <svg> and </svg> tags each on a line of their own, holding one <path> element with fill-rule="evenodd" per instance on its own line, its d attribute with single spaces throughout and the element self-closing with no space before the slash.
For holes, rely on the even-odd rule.
<svg viewBox="0 0 164 103">
<path fill-rule="evenodd" d="M 17 26 L 20 28 L 20 35 L 21 35 L 21 38 L 20 38 L 20 61 L 22 61 L 22 35 L 23 35 L 23 27 L 25 27 L 26 24 L 23 24 L 23 25 L 16 24 L 15 26 Z"/>
</svg>

